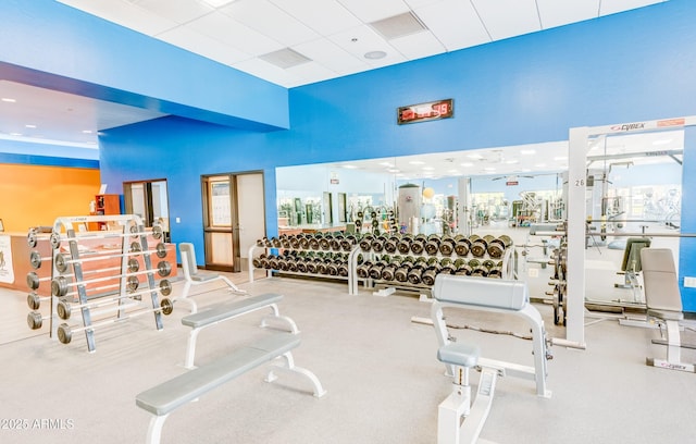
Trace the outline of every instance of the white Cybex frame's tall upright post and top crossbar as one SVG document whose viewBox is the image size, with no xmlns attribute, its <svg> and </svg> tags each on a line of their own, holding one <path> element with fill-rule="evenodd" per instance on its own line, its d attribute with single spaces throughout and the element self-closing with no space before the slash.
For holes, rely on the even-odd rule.
<svg viewBox="0 0 696 444">
<path fill-rule="evenodd" d="M 583 126 L 570 130 L 568 149 L 568 314 L 566 345 L 585 348 L 585 193 L 587 146 L 593 137 L 673 131 L 696 125 L 696 115 Z"/>
</svg>

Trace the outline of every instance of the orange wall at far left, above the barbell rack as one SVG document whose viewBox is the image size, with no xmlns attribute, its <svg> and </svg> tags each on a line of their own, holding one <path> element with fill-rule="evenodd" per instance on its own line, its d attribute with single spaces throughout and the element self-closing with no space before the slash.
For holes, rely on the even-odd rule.
<svg viewBox="0 0 696 444">
<path fill-rule="evenodd" d="M 99 170 L 0 163 L 0 219 L 5 232 L 53 225 L 61 215 L 89 214 Z"/>
</svg>

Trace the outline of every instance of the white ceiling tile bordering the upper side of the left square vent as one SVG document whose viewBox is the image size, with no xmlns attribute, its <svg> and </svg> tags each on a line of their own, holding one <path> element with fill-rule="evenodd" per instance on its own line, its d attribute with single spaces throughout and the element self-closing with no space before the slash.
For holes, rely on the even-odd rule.
<svg viewBox="0 0 696 444">
<path fill-rule="evenodd" d="M 285 47 L 319 38 L 319 34 L 268 0 L 238 1 L 220 11 Z"/>
</svg>

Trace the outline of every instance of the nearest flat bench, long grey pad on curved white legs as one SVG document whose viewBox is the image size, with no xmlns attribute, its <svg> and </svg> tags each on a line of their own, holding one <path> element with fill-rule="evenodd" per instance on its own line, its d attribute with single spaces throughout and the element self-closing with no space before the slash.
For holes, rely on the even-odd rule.
<svg viewBox="0 0 696 444">
<path fill-rule="evenodd" d="M 222 358 L 179 374 L 152 388 L 139 393 L 135 403 L 138 407 L 152 414 L 148 427 L 148 444 L 159 444 L 162 427 L 169 416 L 185 404 L 197 400 L 208 392 L 223 385 L 257 367 L 285 358 L 284 366 L 271 366 L 265 381 L 277 379 L 274 370 L 286 370 L 301 374 L 310 380 L 315 397 L 322 397 L 326 391 L 311 371 L 296 367 L 290 350 L 300 345 L 300 337 L 290 333 L 275 333 L 223 356 Z"/>
</svg>

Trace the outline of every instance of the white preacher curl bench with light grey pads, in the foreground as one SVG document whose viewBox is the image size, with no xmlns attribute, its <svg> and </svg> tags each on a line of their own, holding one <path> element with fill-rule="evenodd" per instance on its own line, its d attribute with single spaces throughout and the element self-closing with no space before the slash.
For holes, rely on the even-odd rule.
<svg viewBox="0 0 696 444">
<path fill-rule="evenodd" d="M 526 283 L 439 274 L 433 287 L 431 311 L 439 348 L 437 358 L 453 377 L 452 393 L 439 404 L 437 443 L 475 443 L 490 411 L 498 377 L 510 374 L 535 381 L 536 394 L 550 397 L 546 388 L 546 331 L 539 312 L 530 305 Z M 480 357 L 476 345 L 452 342 L 447 333 L 444 308 L 486 311 L 518 316 L 530 323 L 534 350 L 534 367 L 521 366 Z M 469 369 L 481 371 L 476 398 L 471 402 Z M 464 417 L 464 421 L 461 418 Z"/>
</svg>

